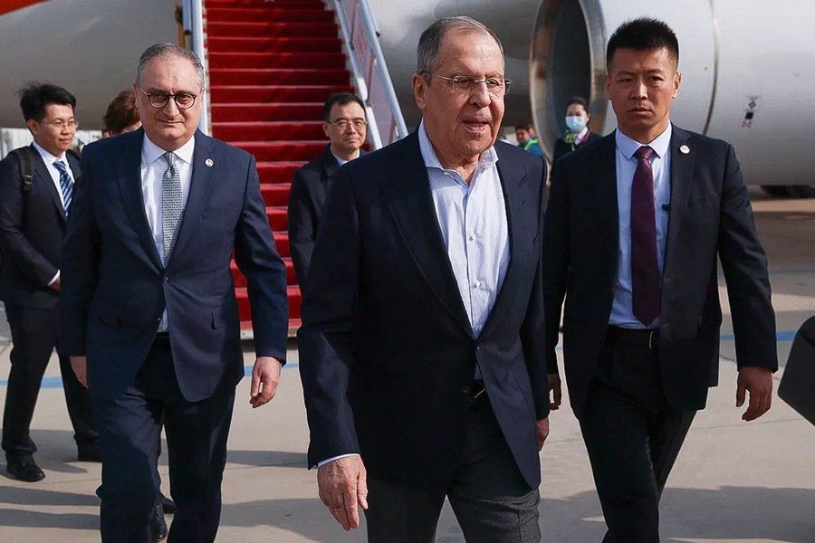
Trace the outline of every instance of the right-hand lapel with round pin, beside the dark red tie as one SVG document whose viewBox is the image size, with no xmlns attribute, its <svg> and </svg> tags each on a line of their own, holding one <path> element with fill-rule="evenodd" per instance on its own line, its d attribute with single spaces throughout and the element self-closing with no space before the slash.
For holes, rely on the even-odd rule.
<svg viewBox="0 0 815 543">
<path fill-rule="evenodd" d="M 686 152 L 683 152 L 683 150 Z M 687 200 L 693 186 L 695 162 L 696 149 L 690 141 L 690 134 L 674 126 L 671 134 L 671 211 L 668 214 L 668 233 L 663 269 L 666 268 L 670 261 L 671 253 L 676 247 L 676 240 L 679 239 L 679 227 L 682 225 L 683 215 L 686 214 Z"/>
</svg>

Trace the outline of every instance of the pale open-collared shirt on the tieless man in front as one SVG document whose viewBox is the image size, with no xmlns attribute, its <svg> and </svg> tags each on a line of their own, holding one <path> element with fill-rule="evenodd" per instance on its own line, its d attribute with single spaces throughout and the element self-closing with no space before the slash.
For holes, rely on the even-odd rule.
<svg viewBox="0 0 815 543">
<path fill-rule="evenodd" d="M 493 147 L 485 150 L 467 184 L 458 172 L 439 162 L 424 121 L 418 137 L 447 257 L 477 337 L 493 309 L 510 258 L 498 155 Z"/>
</svg>

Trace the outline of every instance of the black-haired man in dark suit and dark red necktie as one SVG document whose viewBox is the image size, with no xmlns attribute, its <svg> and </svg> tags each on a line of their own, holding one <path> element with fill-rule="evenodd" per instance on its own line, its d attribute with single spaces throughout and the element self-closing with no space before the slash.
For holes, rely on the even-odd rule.
<svg viewBox="0 0 815 543">
<path fill-rule="evenodd" d="M 554 168 L 543 242 L 546 352 L 563 357 L 609 531 L 659 541 L 658 501 L 717 381 L 722 262 L 736 405 L 764 414 L 778 367 L 767 259 L 733 148 L 670 123 L 679 48 L 664 23 L 621 25 L 607 52 L 618 130 Z"/>
</svg>

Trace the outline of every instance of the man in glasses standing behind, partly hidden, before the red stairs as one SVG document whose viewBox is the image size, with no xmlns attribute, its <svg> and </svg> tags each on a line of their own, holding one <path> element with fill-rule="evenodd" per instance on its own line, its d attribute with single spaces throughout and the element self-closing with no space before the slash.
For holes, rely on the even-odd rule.
<svg viewBox="0 0 815 543">
<path fill-rule="evenodd" d="M 349 92 L 331 94 L 322 104 L 322 129 L 329 144 L 319 157 L 294 172 L 289 194 L 289 246 L 301 287 L 305 285 L 331 177 L 338 167 L 363 153 L 368 132 L 365 104 Z"/>
</svg>

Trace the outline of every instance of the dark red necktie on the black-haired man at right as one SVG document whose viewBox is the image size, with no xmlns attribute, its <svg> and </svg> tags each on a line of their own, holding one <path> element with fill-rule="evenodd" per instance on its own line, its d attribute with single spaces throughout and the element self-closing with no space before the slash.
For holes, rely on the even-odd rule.
<svg viewBox="0 0 815 543">
<path fill-rule="evenodd" d="M 648 158 L 654 149 L 637 149 L 637 171 L 631 186 L 631 290 L 634 316 L 649 326 L 659 316 L 657 214 L 654 211 L 654 172 Z"/>
</svg>

